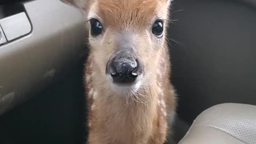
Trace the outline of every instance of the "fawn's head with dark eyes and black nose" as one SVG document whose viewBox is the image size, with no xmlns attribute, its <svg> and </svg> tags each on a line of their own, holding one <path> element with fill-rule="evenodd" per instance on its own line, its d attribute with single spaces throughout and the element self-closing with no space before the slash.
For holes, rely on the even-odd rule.
<svg viewBox="0 0 256 144">
<path fill-rule="evenodd" d="M 86 13 L 93 73 L 132 94 L 154 80 L 171 0 L 61 0 Z"/>
</svg>

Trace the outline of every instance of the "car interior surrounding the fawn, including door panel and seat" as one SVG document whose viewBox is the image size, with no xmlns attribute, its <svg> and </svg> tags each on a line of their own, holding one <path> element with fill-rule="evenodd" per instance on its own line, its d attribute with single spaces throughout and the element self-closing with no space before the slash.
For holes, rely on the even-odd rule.
<svg viewBox="0 0 256 144">
<path fill-rule="evenodd" d="M 170 11 L 173 143 L 255 144 L 256 1 L 176 0 Z M 84 22 L 59 0 L 0 1 L 0 143 L 86 140 Z"/>
</svg>

